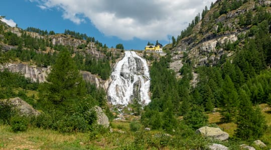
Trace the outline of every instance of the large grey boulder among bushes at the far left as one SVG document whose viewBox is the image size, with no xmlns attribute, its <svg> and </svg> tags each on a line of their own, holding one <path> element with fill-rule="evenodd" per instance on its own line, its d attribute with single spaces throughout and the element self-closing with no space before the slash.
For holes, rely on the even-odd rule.
<svg viewBox="0 0 271 150">
<path fill-rule="evenodd" d="M 18 109 L 19 113 L 22 115 L 27 115 L 27 116 L 36 115 L 37 116 L 41 114 L 41 112 L 34 109 L 30 104 L 28 104 L 26 101 L 24 101 L 20 97 L 6 99 L 5 101 L 8 102 L 8 104 L 13 105 L 16 109 Z"/>
</svg>

